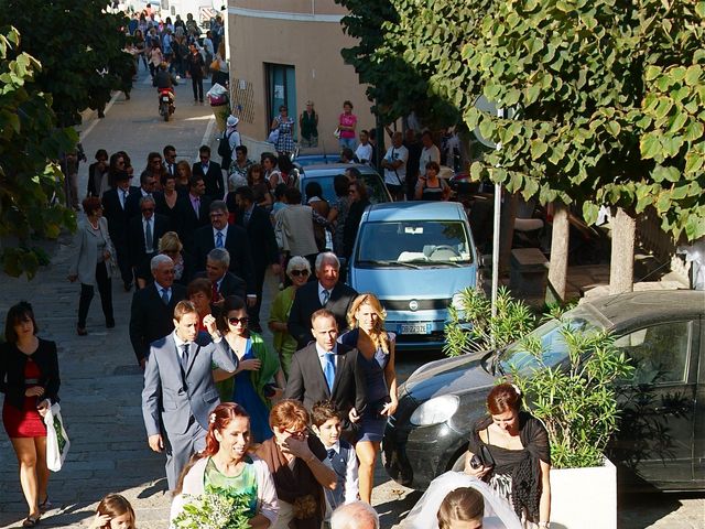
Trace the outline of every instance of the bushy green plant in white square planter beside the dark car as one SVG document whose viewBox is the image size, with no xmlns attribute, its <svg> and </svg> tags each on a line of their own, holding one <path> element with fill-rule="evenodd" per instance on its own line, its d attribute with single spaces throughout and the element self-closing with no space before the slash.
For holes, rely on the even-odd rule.
<svg viewBox="0 0 705 529">
<path fill-rule="evenodd" d="M 567 366 L 546 365 L 541 342 L 527 336 L 522 348 L 538 367 L 513 367 L 510 378 L 549 432 L 552 527 L 615 529 L 617 471 L 605 452 L 619 429 L 619 381 L 633 368 L 609 333 L 589 335 L 562 321 L 561 335 Z"/>
</svg>

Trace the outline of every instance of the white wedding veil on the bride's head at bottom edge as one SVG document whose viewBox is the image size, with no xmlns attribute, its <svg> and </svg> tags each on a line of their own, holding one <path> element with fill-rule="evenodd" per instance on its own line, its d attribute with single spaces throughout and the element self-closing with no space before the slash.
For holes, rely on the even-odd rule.
<svg viewBox="0 0 705 529">
<path fill-rule="evenodd" d="M 521 521 L 509 501 L 495 493 L 485 482 L 463 472 L 446 472 L 436 477 L 402 521 L 402 529 L 438 529 L 438 508 L 448 493 L 473 487 L 485 498 L 484 529 L 521 529 Z"/>
</svg>

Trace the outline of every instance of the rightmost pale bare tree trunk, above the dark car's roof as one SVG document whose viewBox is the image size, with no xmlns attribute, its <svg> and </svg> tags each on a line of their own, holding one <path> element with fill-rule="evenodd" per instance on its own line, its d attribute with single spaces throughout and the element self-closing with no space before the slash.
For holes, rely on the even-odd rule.
<svg viewBox="0 0 705 529">
<path fill-rule="evenodd" d="M 612 255 L 609 262 L 610 294 L 633 290 L 636 234 L 636 219 L 618 207 L 612 219 Z"/>
</svg>

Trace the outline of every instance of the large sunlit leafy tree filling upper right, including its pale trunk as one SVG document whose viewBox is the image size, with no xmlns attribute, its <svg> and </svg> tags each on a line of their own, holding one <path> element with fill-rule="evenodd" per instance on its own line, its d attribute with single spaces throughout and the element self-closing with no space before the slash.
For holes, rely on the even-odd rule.
<svg viewBox="0 0 705 529">
<path fill-rule="evenodd" d="M 631 289 L 633 217 L 647 207 L 674 237 L 705 235 L 705 1 L 391 3 L 370 61 L 402 48 L 430 93 L 501 144 L 471 166 L 476 179 L 582 205 L 588 223 L 614 206 L 615 291 Z M 479 95 L 512 118 L 478 110 Z"/>
</svg>

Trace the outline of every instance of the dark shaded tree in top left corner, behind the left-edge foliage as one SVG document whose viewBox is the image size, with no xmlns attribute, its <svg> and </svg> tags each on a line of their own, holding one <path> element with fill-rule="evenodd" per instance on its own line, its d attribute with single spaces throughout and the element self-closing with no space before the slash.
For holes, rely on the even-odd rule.
<svg viewBox="0 0 705 529">
<path fill-rule="evenodd" d="M 122 13 L 106 12 L 100 0 L 3 0 L 0 20 L 22 35 L 21 51 L 42 64 L 36 83 L 52 94 L 62 127 L 80 123 L 86 108 L 101 109 L 112 90 L 123 88 L 132 57 L 124 52 Z"/>
</svg>

